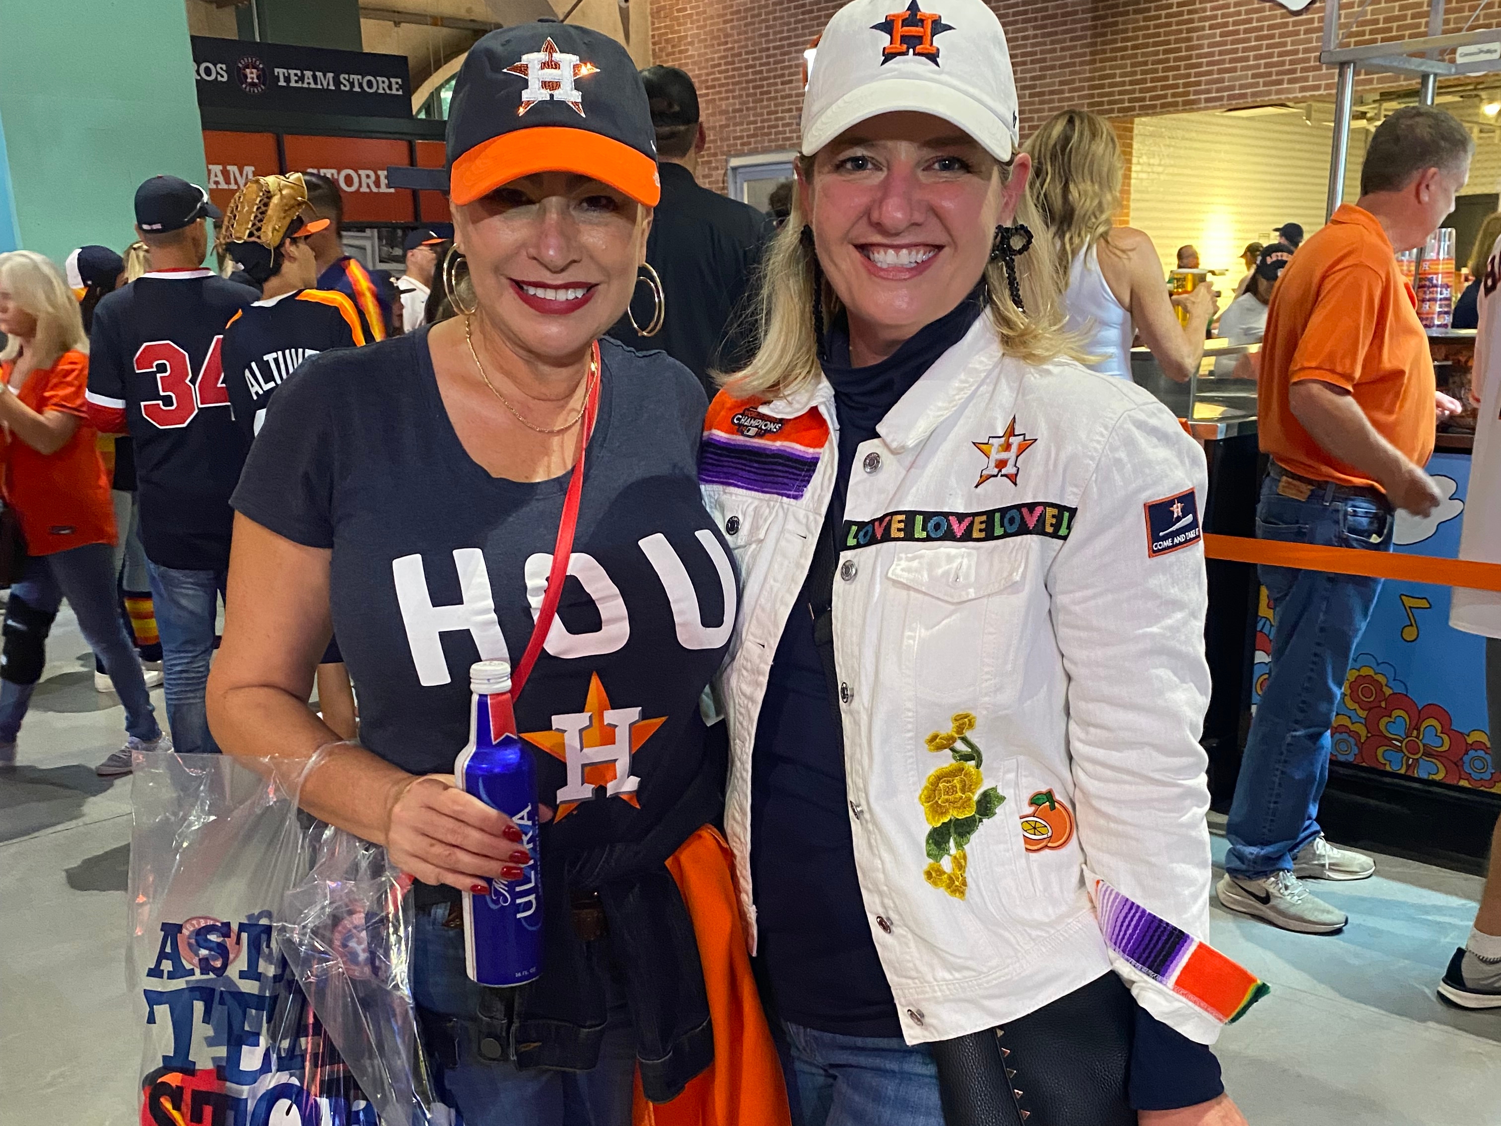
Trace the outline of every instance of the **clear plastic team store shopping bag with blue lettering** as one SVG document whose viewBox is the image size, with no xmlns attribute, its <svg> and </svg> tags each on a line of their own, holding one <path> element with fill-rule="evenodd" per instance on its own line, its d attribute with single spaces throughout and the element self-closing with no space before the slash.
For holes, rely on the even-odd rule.
<svg viewBox="0 0 1501 1126">
<path fill-rule="evenodd" d="M 132 803 L 143 1126 L 456 1126 L 417 1040 L 384 850 L 227 755 L 140 755 Z"/>
</svg>

